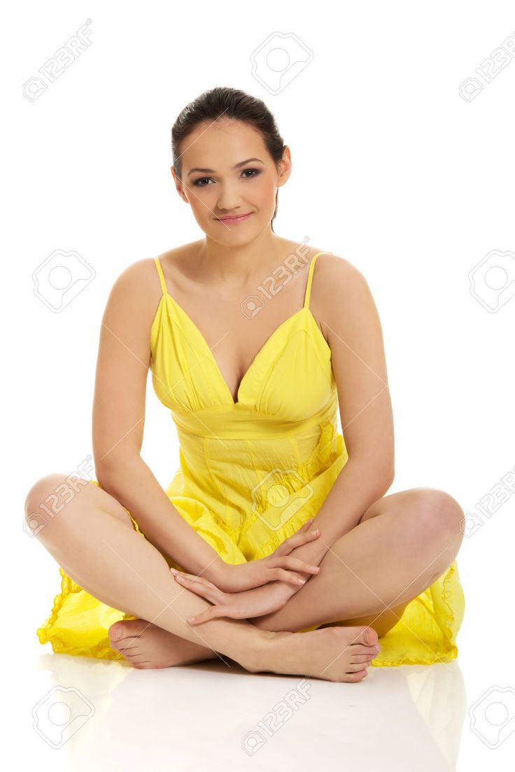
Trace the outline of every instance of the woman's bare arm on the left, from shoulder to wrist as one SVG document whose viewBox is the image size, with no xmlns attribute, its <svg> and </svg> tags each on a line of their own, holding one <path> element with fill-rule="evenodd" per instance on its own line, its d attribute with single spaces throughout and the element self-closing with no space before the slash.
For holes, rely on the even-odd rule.
<svg viewBox="0 0 515 772">
<path fill-rule="evenodd" d="M 118 276 L 107 300 L 93 400 L 97 482 L 160 552 L 186 571 L 214 579 L 224 561 L 183 520 L 141 458 L 150 331 L 160 298 L 154 260 L 143 259 Z"/>
</svg>

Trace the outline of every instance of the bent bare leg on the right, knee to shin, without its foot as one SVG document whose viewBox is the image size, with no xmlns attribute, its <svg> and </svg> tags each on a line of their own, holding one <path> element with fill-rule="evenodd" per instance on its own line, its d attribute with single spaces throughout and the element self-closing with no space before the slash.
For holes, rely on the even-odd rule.
<svg viewBox="0 0 515 772">
<path fill-rule="evenodd" d="M 452 564 L 463 537 L 462 517 L 456 499 L 437 489 L 383 496 L 334 543 L 320 562 L 320 574 L 279 611 L 253 623 L 264 630 L 294 631 L 300 624 L 347 620 L 348 625 L 371 625 L 384 635 L 408 602 Z"/>
</svg>

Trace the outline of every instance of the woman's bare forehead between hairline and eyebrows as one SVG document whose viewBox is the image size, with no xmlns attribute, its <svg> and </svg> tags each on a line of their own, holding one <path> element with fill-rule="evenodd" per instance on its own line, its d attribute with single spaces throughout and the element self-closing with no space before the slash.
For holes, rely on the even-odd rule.
<svg viewBox="0 0 515 772">
<path fill-rule="evenodd" d="M 259 131 L 241 120 L 198 124 L 181 147 L 181 160 L 186 173 L 193 167 L 232 168 L 249 157 L 266 161 L 266 146 Z"/>
</svg>

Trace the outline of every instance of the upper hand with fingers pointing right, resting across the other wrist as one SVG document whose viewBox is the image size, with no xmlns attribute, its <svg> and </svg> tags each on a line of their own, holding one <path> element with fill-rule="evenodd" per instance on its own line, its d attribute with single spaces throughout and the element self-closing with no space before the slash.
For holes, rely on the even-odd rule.
<svg viewBox="0 0 515 772">
<path fill-rule="evenodd" d="M 248 563 L 236 565 L 229 563 L 221 564 L 215 569 L 215 573 L 211 577 L 215 586 L 224 592 L 243 592 L 280 579 L 293 584 L 297 589 L 303 587 L 305 580 L 303 577 L 293 573 L 293 571 L 317 574 L 319 568 L 306 563 L 304 560 L 300 560 L 298 557 L 290 557 L 290 552 L 296 547 L 301 547 L 303 544 L 320 537 L 318 529 L 308 530 L 311 523 L 313 523 L 313 517 L 307 523 L 304 523 L 296 533 L 293 533 L 293 536 L 285 539 L 267 557 L 262 557 L 259 560 L 249 560 Z M 290 569 L 290 571 L 286 571 L 286 569 Z"/>
</svg>

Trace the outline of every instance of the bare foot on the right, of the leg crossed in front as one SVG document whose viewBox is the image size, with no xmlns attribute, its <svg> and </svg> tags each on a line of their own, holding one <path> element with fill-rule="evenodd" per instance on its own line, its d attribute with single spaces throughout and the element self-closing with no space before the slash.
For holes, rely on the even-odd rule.
<svg viewBox="0 0 515 772">
<path fill-rule="evenodd" d="M 368 633 L 368 641 L 365 635 Z M 326 681 L 361 681 L 381 645 L 374 628 L 328 627 L 303 633 L 270 634 L 252 672 L 307 675 Z"/>
</svg>

